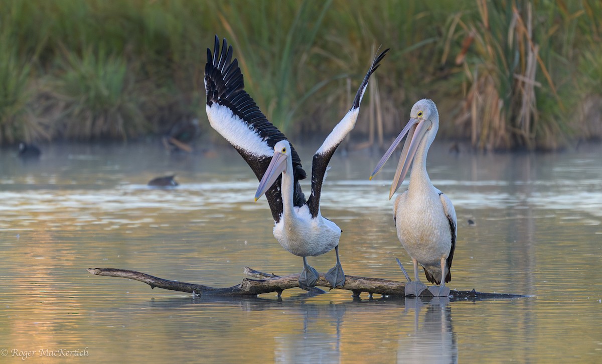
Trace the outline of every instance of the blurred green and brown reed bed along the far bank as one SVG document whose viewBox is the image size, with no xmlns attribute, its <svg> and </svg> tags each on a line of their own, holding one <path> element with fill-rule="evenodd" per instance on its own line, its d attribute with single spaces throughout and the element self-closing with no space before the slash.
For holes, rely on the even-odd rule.
<svg viewBox="0 0 602 364">
<path fill-rule="evenodd" d="M 382 145 L 434 99 L 475 149 L 602 137 L 602 5 L 521 1 L 0 2 L 0 144 L 128 140 L 205 120 L 214 34 L 287 134 L 323 135 L 379 46 L 391 48 L 355 137 Z"/>
</svg>

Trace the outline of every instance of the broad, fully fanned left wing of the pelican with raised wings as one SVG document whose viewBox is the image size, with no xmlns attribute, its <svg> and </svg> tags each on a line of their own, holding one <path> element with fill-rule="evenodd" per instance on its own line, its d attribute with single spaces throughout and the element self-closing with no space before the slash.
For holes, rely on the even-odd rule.
<svg viewBox="0 0 602 364">
<path fill-rule="evenodd" d="M 207 64 L 205 65 L 205 90 L 207 105 L 205 110 L 213 129 L 229 141 L 238 150 L 249 167 L 255 172 L 258 180 L 264 175 L 272 155 L 274 146 L 281 140 L 287 139 L 281 131 L 268 122 L 255 101 L 244 91 L 243 74 L 238 67 L 238 60 L 232 61 L 232 46 L 226 39 L 222 43 L 216 35 L 213 54 L 207 49 Z M 301 165 L 301 159 L 291 145 L 293 158 L 293 176 L 295 190 L 294 205 L 305 203 L 299 180 L 306 177 Z M 272 217 L 276 222 L 282 214 L 281 178 L 276 180 L 272 188 L 265 193 L 270 204 Z"/>
</svg>

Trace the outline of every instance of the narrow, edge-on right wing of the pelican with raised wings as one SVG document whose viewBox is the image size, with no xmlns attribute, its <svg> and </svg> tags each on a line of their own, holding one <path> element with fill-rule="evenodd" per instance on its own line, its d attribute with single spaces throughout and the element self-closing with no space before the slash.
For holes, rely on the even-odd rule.
<svg viewBox="0 0 602 364">
<path fill-rule="evenodd" d="M 364 81 L 359 85 L 358 93 L 355 94 L 353 99 L 353 105 L 347 114 L 341 119 L 341 121 L 332 129 L 332 132 L 326 137 L 324 143 L 320 146 L 314 154 L 314 159 L 311 164 L 311 196 L 308 199 L 309 212 L 312 217 L 316 217 L 320 211 L 320 193 L 322 190 L 322 183 L 324 182 L 324 175 L 326 174 L 326 168 L 330 162 L 330 158 L 337 150 L 341 141 L 349 134 L 351 129 L 355 126 L 356 120 L 358 120 L 359 104 L 362 102 L 362 97 L 368 87 L 368 81 L 370 75 L 379 67 L 379 62 L 385 57 L 386 52 L 389 49 L 385 49 L 384 52 L 379 54 L 372 61 L 372 66 L 368 69 Z"/>
</svg>

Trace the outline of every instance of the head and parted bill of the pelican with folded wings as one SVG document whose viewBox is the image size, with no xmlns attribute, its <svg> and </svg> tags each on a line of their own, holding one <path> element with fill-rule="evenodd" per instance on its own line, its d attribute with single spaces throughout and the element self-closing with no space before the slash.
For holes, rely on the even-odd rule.
<svg viewBox="0 0 602 364">
<path fill-rule="evenodd" d="M 406 143 L 403 144 L 402 156 L 397 164 L 397 170 L 393 177 L 393 184 L 391 185 L 391 191 L 389 191 L 389 200 L 393 197 L 397 188 L 402 184 L 403 179 L 408 174 L 412 160 L 416 155 L 418 146 L 425 143 L 425 149 L 428 149 L 430 144 L 435 140 L 435 134 L 439 129 L 439 113 L 437 106 L 432 100 L 422 99 L 412 106 L 410 111 L 410 121 L 403 128 L 402 132 L 397 136 L 391 147 L 386 151 L 385 155 L 382 156 L 376 168 L 372 172 L 370 179 L 380 171 L 380 168 L 385 164 L 386 160 L 389 159 L 397 145 L 402 141 L 403 137 L 408 134 Z"/>
</svg>

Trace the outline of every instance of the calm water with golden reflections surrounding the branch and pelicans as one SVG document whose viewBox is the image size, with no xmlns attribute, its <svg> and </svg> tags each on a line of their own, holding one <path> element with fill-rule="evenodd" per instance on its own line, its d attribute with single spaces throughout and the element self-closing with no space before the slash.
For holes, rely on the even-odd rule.
<svg viewBox="0 0 602 364">
<path fill-rule="evenodd" d="M 315 149 L 297 149 L 311 170 Z M 290 274 L 302 259 L 273 238 L 265 199 L 253 202 L 258 182 L 229 147 L 176 157 L 158 143 L 47 146 L 25 164 L 0 150 L 0 361 L 29 351 L 48 363 L 600 362 L 602 147 L 447 149 L 435 142 L 429 173 L 458 213 L 450 287 L 536 297 L 354 300 L 293 289 L 282 300 L 206 299 L 92 276 L 86 268 L 127 268 L 231 286 L 245 266 Z M 379 157 L 335 155 L 322 212 L 343 229 L 347 274 L 402 280 L 395 258 L 411 260 L 387 199 L 396 162 L 367 179 Z M 167 173 L 178 188 L 146 187 Z M 334 259 L 310 261 L 326 271 Z"/>
</svg>

